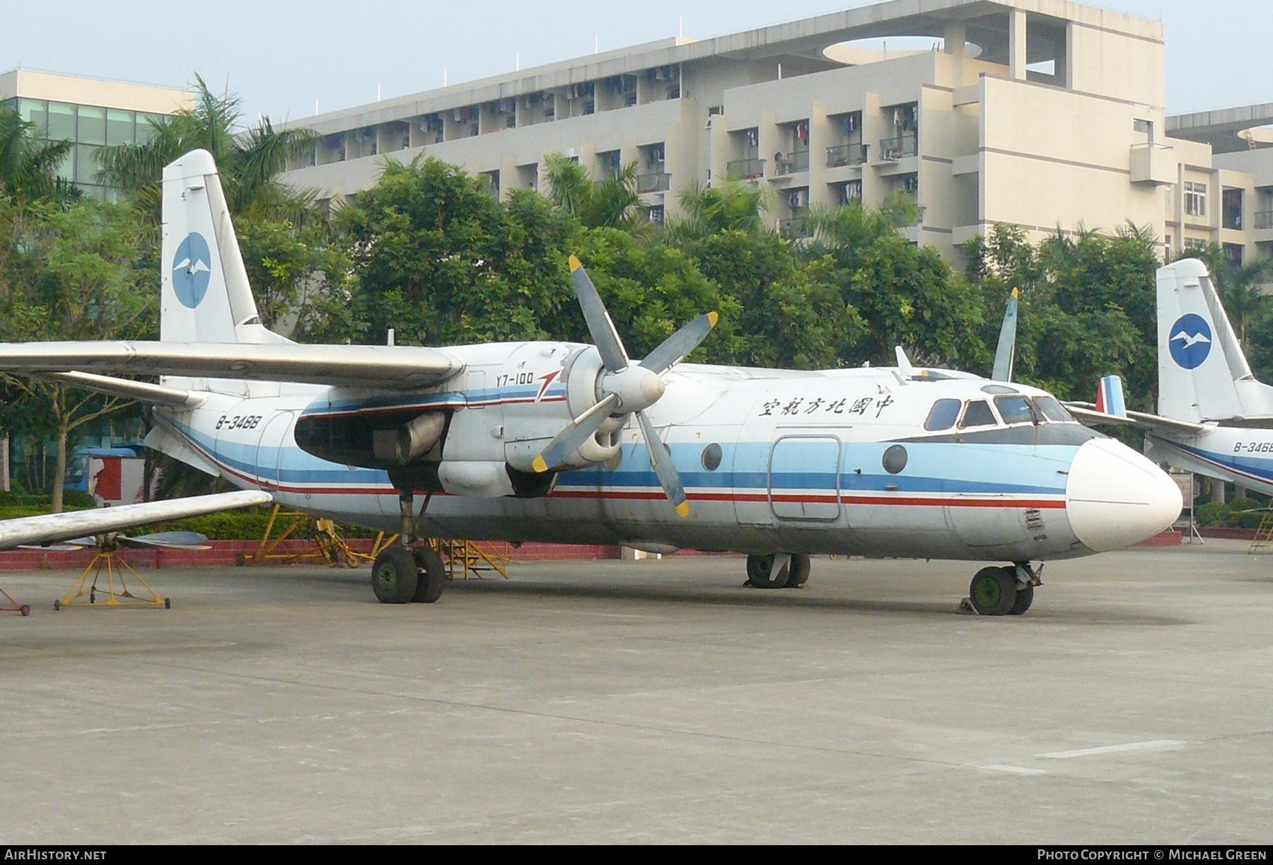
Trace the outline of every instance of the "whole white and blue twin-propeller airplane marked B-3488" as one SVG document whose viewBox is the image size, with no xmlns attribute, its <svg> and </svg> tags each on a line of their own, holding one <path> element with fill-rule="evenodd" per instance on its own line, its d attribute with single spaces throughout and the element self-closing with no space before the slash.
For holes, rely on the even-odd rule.
<svg viewBox="0 0 1273 865">
<path fill-rule="evenodd" d="M 591 345 L 303 345 L 262 326 L 210 154 L 163 172 L 160 339 L 0 345 L 0 371 L 153 405 L 146 443 L 316 516 L 402 535 L 388 604 L 442 594 L 418 538 L 747 554 L 796 587 L 811 554 L 1006 562 L 973 608 L 1021 614 L 1035 561 L 1127 547 L 1180 493 L 1043 390 L 967 372 L 684 363 L 708 313 L 633 361 L 584 268 Z M 121 375 L 158 375 L 158 385 Z"/>
</svg>

